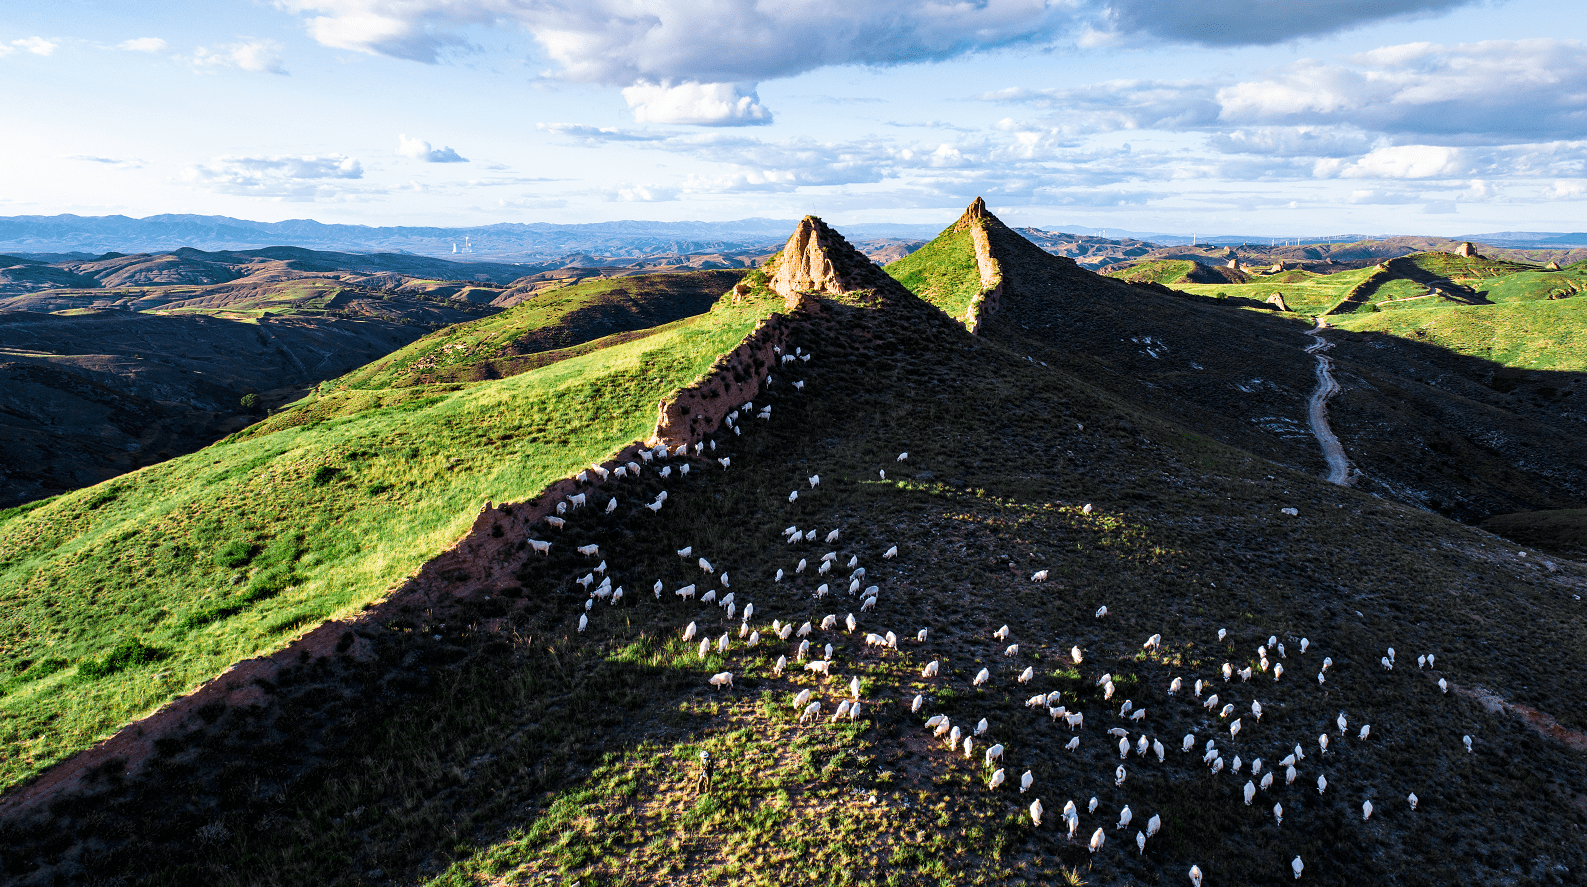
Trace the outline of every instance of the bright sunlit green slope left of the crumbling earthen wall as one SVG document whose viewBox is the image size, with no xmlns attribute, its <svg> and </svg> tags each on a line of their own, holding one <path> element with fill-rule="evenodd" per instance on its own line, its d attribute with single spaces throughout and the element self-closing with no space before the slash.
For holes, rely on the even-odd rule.
<svg viewBox="0 0 1587 887">
<path fill-rule="evenodd" d="M 644 438 L 657 401 L 781 306 L 519 376 L 333 390 L 192 455 L 0 517 L 0 785 L 381 597 L 479 503 Z"/>
</svg>

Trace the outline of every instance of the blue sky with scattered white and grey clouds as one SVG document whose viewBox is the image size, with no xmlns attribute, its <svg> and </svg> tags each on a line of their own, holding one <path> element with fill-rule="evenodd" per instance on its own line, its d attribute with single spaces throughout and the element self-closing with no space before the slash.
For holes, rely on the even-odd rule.
<svg viewBox="0 0 1587 887">
<path fill-rule="evenodd" d="M 1558 0 L 52 0 L 0 216 L 1587 230 Z"/>
</svg>

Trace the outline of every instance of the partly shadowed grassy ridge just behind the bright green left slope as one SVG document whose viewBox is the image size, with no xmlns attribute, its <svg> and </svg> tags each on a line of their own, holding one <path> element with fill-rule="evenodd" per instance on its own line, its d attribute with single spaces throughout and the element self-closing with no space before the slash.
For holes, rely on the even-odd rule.
<svg viewBox="0 0 1587 887">
<path fill-rule="evenodd" d="M 513 376 L 544 365 L 546 352 L 700 314 L 740 278 L 741 271 L 686 271 L 578 282 L 432 333 L 349 373 L 338 386 L 381 389 Z"/>
</svg>

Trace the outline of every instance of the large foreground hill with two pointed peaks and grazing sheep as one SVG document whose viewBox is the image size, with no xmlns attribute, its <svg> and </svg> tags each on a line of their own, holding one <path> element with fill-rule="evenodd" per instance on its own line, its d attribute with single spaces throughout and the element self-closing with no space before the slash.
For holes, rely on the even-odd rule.
<svg viewBox="0 0 1587 887">
<path fill-rule="evenodd" d="M 0 798 L 8 876 L 1111 885 L 1195 865 L 1262 885 L 1301 857 L 1312 881 L 1420 885 L 1587 866 L 1587 566 L 1322 482 L 1314 441 L 1251 420 L 1303 409 L 1308 325 L 1098 278 L 981 202 L 920 254 L 890 270 L 924 297 L 806 219 L 668 332 L 505 379 L 329 386 L 6 516 L 0 706 L 6 760 L 27 762 Z M 1408 384 L 1409 357 L 1325 335 L 1336 420 L 1427 433 L 1360 382 Z M 635 441 L 670 452 L 641 465 Z M 592 460 L 640 471 L 567 478 Z M 1514 471 L 1468 487 L 1549 478 Z M 117 714 L 90 722 L 90 700 Z"/>
</svg>

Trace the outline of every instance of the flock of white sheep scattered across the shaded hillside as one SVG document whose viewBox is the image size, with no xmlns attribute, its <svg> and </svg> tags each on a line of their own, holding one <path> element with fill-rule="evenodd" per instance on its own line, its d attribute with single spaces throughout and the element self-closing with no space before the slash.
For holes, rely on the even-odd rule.
<svg viewBox="0 0 1587 887">
<path fill-rule="evenodd" d="M 781 363 L 786 367 L 794 360 L 809 360 L 809 354 L 797 349 L 794 354 L 781 354 Z M 774 384 L 773 376 L 767 376 L 767 387 Z M 803 390 L 803 381 L 794 382 L 797 390 Z M 755 419 L 770 420 L 771 406 L 762 405 L 757 411 L 754 401 L 746 401 L 740 408 L 733 409 L 725 422 L 724 428 L 730 430 L 735 436 L 741 435 L 741 420 L 744 417 L 754 416 Z M 679 444 L 674 449 L 665 446 L 655 446 L 652 449 L 641 451 L 638 455 L 641 462 L 627 462 L 608 470 L 600 465 L 592 465 L 587 471 L 581 471 L 578 479 L 581 484 L 594 481 L 594 476 L 606 481 L 611 478 L 627 478 L 638 476 L 647 467 L 657 471 L 663 479 L 671 478 L 676 471 L 679 476 L 687 476 L 690 471 L 690 455 L 697 460 L 714 460 L 720 470 L 732 468 L 732 457 L 716 455 L 717 443 L 716 440 L 698 441 L 692 446 Z M 909 454 L 898 454 L 897 460 L 908 460 Z M 709 465 L 709 462 L 705 462 Z M 886 479 L 886 470 L 878 470 L 879 476 Z M 805 493 L 816 490 L 820 486 L 820 476 L 813 474 L 806 481 L 808 487 Z M 790 490 L 787 500 L 790 503 L 797 501 L 800 497 L 800 489 Z M 557 505 L 557 516 L 549 516 L 544 519 L 546 525 L 560 530 L 565 525 L 565 516 L 570 509 L 578 509 L 590 506 L 590 495 L 595 493 L 594 489 L 579 492 L 567 497 L 565 501 Z M 667 492 L 662 490 L 654 501 L 646 503 L 644 508 L 652 513 L 659 513 L 667 501 Z M 603 506 L 609 514 L 617 508 L 617 498 L 611 497 Z M 1090 506 L 1086 506 L 1086 513 L 1090 513 Z M 825 601 L 828 595 L 847 595 L 849 600 L 859 601 L 859 612 L 865 614 L 878 608 L 881 600 L 881 587 L 878 584 L 867 584 L 867 568 L 860 563 L 859 554 L 849 554 L 844 559 L 838 552 L 838 543 L 843 538 L 841 528 L 833 528 L 822 533 L 817 528 L 801 528 L 790 525 L 781 533 L 789 546 L 811 546 L 817 539 L 822 543 L 817 547 L 827 547 L 825 552 L 819 555 L 798 557 L 797 563 L 790 565 L 789 570 L 776 570 L 768 579 L 774 584 L 784 581 L 806 579 L 809 582 L 819 582 L 811 597 L 816 601 Z M 551 544 L 544 539 L 530 539 L 530 544 L 536 552 L 549 554 Z M 876 546 L 881 547 L 881 546 Z M 579 546 L 578 552 L 590 560 L 595 560 L 589 571 L 576 579 L 579 586 L 587 590 L 589 598 L 582 605 L 582 611 L 578 614 L 578 630 L 584 632 L 589 627 L 590 616 L 597 614 L 597 605 L 617 605 L 624 600 L 624 589 L 613 584 L 605 554 L 598 546 Z M 881 552 L 882 559 L 893 559 L 898 555 L 898 547 L 890 546 Z M 760 614 L 759 619 L 755 605 L 752 601 L 740 601 L 736 592 L 732 586 L 730 571 L 719 565 L 711 563 L 703 552 L 695 552 L 694 547 L 678 549 L 678 557 L 686 562 L 692 562 L 698 566 L 700 576 L 694 582 L 681 584 L 671 590 L 681 600 L 698 600 L 698 603 L 713 603 L 724 612 L 724 624 L 728 625 L 719 636 L 713 636 L 714 628 L 705 628 L 701 625 L 703 619 L 692 619 L 687 625 L 681 628 L 681 636 L 684 643 L 694 643 L 700 638 L 698 657 L 705 660 L 713 651 L 717 654 L 730 654 L 733 651 L 747 651 L 751 647 L 759 647 L 762 644 L 784 644 L 779 651 L 774 665 L 771 666 L 771 678 L 782 678 L 786 671 L 792 666 L 809 673 L 811 676 L 819 676 L 816 689 L 800 689 L 792 697 L 792 706 L 798 712 L 798 722 L 808 724 L 816 722 L 824 717 L 824 700 L 820 698 L 820 685 L 836 682 L 841 687 L 835 697 L 835 708 L 832 709 L 830 720 L 836 722 L 840 719 L 860 720 L 867 711 L 867 706 L 874 705 L 908 705 L 911 714 L 922 717 L 924 728 L 932 733 L 933 738 L 941 739 L 946 749 L 957 755 L 963 754 L 965 758 L 974 757 L 976 749 L 981 749 L 981 766 L 984 768 L 986 787 L 987 790 L 1003 790 L 1008 782 L 1008 774 L 1005 771 L 1003 762 L 1008 749 L 1003 743 L 992 741 L 1000 731 L 1006 731 L 1009 736 L 1017 736 L 1025 739 L 1027 736 L 1039 736 L 1030 724 L 1011 724 L 1011 725 L 993 725 L 989 719 L 981 717 L 976 724 L 952 724 L 946 714 L 922 714 L 932 705 L 928 693 L 903 693 L 895 700 L 870 700 L 863 698 L 863 685 L 859 678 L 851 678 L 843 681 L 838 673 L 838 665 L 835 654 L 838 652 L 833 646 L 833 639 L 843 643 L 844 638 L 855 636 L 860 630 L 860 619 L 855 612 L 847 612 L 840 617 L 836 612 L 824 616 L 819 622 L 814 619 L 803 620 L 800 625 L 782 622 L 781 619 L 765 619 Z M 792 560 L 794 555 L 789 555 Z M 1030 576 L 1032 582 L 1043 582 L 1047 579 L 1047 570 L 1038 570 Z M 651 586 L 651 593 L 654 598 L 660 600 L 667 589 L 662 581 L 655 581 Z M 846 608 L 835 608 L 846 609 Z M 1109 614 L 1106 606 L 1095 611 L 1095 619 L 1106 619 Z M 736 632 L 730 627 L 733 617 L 738 616 Z M 817 635 L 817 632 L 820 635 Z M 736 639 L 735 639 L 736 635 Z M 828 638 L 824 641 L 824 638 Z M 924 647 L 928 643 L 930 630 L 919 628 L 911 635 L 913 646 Z M 1014 638 L 1013 630 L 1003 625 L 992 633 L 992 639 L 1003 646 L 1000 651 L 1006 659 L 1019 657 L 1020 644 Z M 1217 641 L 1224 644 L 1228 639 L 1228 632 L 1225 628 L 1217 630 Z M 1066 728 L 1070 735 L 1066 744 L 1063 746 L 1068 752 L 1078 752 L 1082 738 L 1089 735 L 1087 731 L 1087 709 L 1090 714 L 1090 724 L 1095 735 L 1106 735 L 1108 743 L 1117 739 L 1119 763 L 1112 770 L 1111 776 L 1116 787 L 1127 784 L 1130 778 L 1130 768 L 1149 768 L 1162 766 L 1168 762 L 1170 746 L 1178 747 L 1178 755 L 1185 758 L 1189 755 L 1198 755 L 1201 765 L 1205 765 L 1206 779 L 1225 779 L 1239 782 L 1244 779 L 1244 785 L 1239 787 L 1239 797 L 1246 806 L 1262 806 L 1271 811 L 1274 824 L 1282 825 L 1284 822 L 1284 804 L 1278 800 L 1285 790 L 1292 789 L 1297 781 L 1303 784 L 1311 784 L 1311 773 L 1305 770 L 1314 770 L 1316 774 L 1316 790 L 1317 793 L 1325 792 L 1349 792 L 1349 785 L 1330 784 L 1327 776 L 1320 773 L 1320 760 L 1327 760 L 1328 754 L 1336 754 L 1339 746 L 1355 743 L 1366 744 L 1373 741 L 1371 724 L 1355 725 L 1349 712 L 1341 711 L 1331 724 L 1319 725 L 1316 735 L 1308 736 L 1284 736 L 1279 738 L 1266 731 L 1262 724 L 1263 716 L 1263 697 L 1268 697 L 1268 706 L 1274 705 L 1271 695 L 1278 689 L 1276 685 L 1285 682 L 1287 673 L 1309 673 L 1316 668 L 1316 682 L 1319 687 L 1325 685 L 1328 681 L 1330 668 L 1333 660 L 1328 655 L 1320 655 L 1317 644 L 1308 638 L 1287 638 L 1281 639 L 1276 635 L 1270 635 L 1265 643 L 1257 643 L 1260 638 L 1252 638 L 1255 643 L 1252 665 L 1236 666 L 1232 662 L 1225 662 L 1220 670 L 1211 676 L 1184 674 L 1174 676 L 1166 685 L 1166 697 L 1171 700 L 1170 705 L 1178 706 L 1197 706 L 1203 711 L 1195 712 L 1209 727 L 1206 727 L 1200 735 L 1187 733 L 1179 741 L 1170 741 L 1165 744 L 1162 738 L 1152 736 L 1151 712 L 1144 706 L 1136 706 L 1133 700 L 1124 698 L 1116 700 L 1120 695 L 1119 687 L 1114 682 L 1114 676 L 1103 673 L 1095 676 L 1092 684 L 1086 681 L 1087 692 L 1084 693 L 1068 693 L 1060 690 L 1036 692 L 1025 701 L 1027 709 L 1033 709 L 1036 716 L 1046 714 L 1046 719 L 1036 719 L 1039 724 L 1051 724 L 1059 731 Z M 863 643 L 867 647 L 876 647 L 878 651 L 898 651 L 900 638 L 897 633 L 887 632 L 870 632 L 863 633 Z M 1230 641 L 1233 643 L 1233 641 Z M 816 644 L 820 644 L 819 647 Z M 1152 635 L 1147 638 L 1141 649 L 1146 654 L 1159 654 L 1165 644 L 1163 635 Z M 992 654 L 998 652 L 995 647 Z M 1295 655 L 1289 655 L 1293 652 Z M 792 660 L 790 660 L 792 657 Z M 924 655 L 922 655 L 924 659 Z M 1076 644 L 1070 649 L 1066 662 L 1062 663 L 1065 670 L 1079 671 L 1079 666 L 1086 663 L 1086 652 Z M 1435 654 L 1424 654 L 1417 657 L 1417 668 L 1431 668 L 1436 662 Z M 1289 668 L 1285 668 L 1289 663 Z M 1393 670 L 1397 665 L 1395 651 L 1389 647 L 1381 657 L 1379 663 L 1384 670 Z M 1039 684 L 1038 674 L 1033 666 L 1025 666 L 1014 671 L 1017 666 L 1008 668 L 1006 673 L 1000 668 L 993 673 L 992 668 L 981 668 L 971 679 L 970 689 L 997 689 L 998 684 L 1013 689 L 1013 684 L 1019 687 L 1032 689 L 1033 684 Z M 952 682 L 952 676 L 946 674 L 943 670 L 941 659 L 930 659 L 920 670 L 920 681 L 930 685 L 943 685 Z M 1287 682 L 1311 682 L 1311 678 L 1290 676 Z M 733 685 L 733 673 L 720 671 L 709 678 L 709 685 L 717 689 L 730 689 Z M 1438 679 L 1438 692 L 1447 693 L 1447 682 Z M 1431 687 L 1431 684 L 1430 684 Z M 1430 690 L 1431 692 L 1431 690 Z M 1059 722 L 1062 720 L 1062 727 Z M 1108 725 L 1114 724 L 1114 725 Z M 1108 725 L 1106 728 L 1103 728 Z M 1354 728 L 1354 730 L 1352 730 Z M 1039 727 L 1036 728 L 1039 730 Z M 1130 735 L 1138 733 L 1135 739 Z M 1222 746 L 1220 746 L 1222 743 Z M 1473 751 L 1471 736 L 1463 738 L 1463 746 L 1466 752 Z M 1244 751 L 1249 760 L 1239 754 Z M 1227 754 L 1227 757 L 1225 757 Z M 1312 762 L 1314 763 L 1308 763 Z M 1025 770 L 1019 776 L 1019 793 L 1035 793 L 1038 792 L 1036 778 L 1030 770 Z M 1271 797 L 1273 804 L 1266 808 L 1266 800 L 1257 803 L 1258 797 Z M 1417 808 L 1416 792 L 1408 792 L 1404 803 L 1411 811 Z M 1073 800 L 1063 804 L 1060 820 L 1068 831 L 1068 838 L 1076 839 L 1082 816 L 1098 816 L 1100 801 L 1092 797 L 1084 806 L 1086 812 L 1081 814 L 1081 808 L 1076 806 Z M 1039 797 L 1030 801 L 1025 808 L 1028 816 L 1038 828 L 1043 827 L 1046 817 L 1046 808 Z M 1363 800 L 1360 804 L 1360 814 L 1363 820 L 1373 816 L 1373 801 Z M 1092 831 L 1087 843 L 1090 852 L 1103 851 L 1108 841 L 1108 819 L 1112 817 L 1111 812 L 1105 812 L 1103 825 L 1098 825 Z M 1114 831 L 1125 831 L 1136 824 L 1138 817 L 1128 804 L 1124 804 L 1117 811 L 1117 820 L 1112 824 Z M 1163 827 L 1162 817 L 1152 814 L 1146 819 L 1144 825 L 1138 827 L 1135 831 L 1135 847 L 1138 852 L 1146 852 L 1146 844 L 1152 839 L 1159 830 Z M 1297 855 L 1290 863 L 1290 871 L 1298 879 L 1305 871 L 1303 860 Z M 1200 887 L 1203 873 L 1200 866 L 1192 865 L 1189 870 L 1190 882 Z"/>
</svg>

